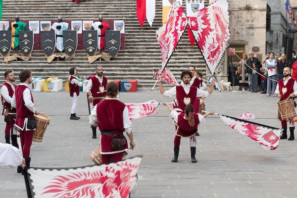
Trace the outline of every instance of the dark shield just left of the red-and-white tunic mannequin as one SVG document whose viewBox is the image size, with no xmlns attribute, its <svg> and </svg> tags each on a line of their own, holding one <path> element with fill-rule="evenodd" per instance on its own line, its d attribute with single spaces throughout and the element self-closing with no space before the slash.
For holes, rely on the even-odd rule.
<svg viewBox="0 0 297 198">
<path fill-rule="evenodd" d="M 86 52 L 89 55 L 94 55 L 98 48 L 98 34 L 97 30 L 84 30 L 83 31 L 83 43 Z"/>
</svg>

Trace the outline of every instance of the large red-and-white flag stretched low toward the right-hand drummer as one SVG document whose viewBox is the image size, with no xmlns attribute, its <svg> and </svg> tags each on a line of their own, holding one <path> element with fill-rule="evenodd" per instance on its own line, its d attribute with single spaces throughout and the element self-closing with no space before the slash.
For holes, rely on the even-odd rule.
<svg viewBox="0 0 297 198">
<path fill-rule="evenodd" d="M 281 129 L 227 115 L 219 116 L 232 129 L 256 141 L 262 148 L 274 150 L 280 143 Z"/>
</svg>

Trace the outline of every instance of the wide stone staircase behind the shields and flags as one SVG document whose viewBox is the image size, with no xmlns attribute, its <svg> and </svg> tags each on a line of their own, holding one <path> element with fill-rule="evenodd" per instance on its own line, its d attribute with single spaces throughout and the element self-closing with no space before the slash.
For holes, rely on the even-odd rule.
<svg viewBox="0 0 297 198">
<path fill-rule="evenodd" d="M 208 0 L 205 1 L 205 6 Z M 184 1 L 185 5 L 185 1 Z M 185 8 L 185 6 L 184 6 Z M 22 20 L 55 20 L 62 15 L 64 20 L 97 19 L 99 13 L 103 20 L 125 20 L 126 49 L 120 50 L 117 58 L 109 62 L 95 61 L 90 64 L 84 50 L 76 51 L 76 56 L 70 61 L 52 61 L 47 63 L 43 51 L 34 50 L 28 62 L 13 61 L 5 64 L 0 59 L 0 73 L 7 69 L 15 71 L 16 76 L 21 69 L 31 69 L 34 77 L 58 77 L 66 80 L 69 68 L 76 67 L 79 76 L 89 76 L 94 73 L 95 66 L 104 68 L 104 75 L 109 79 L 138 79 L 139 88 L 148 89 L 154 84 L 152 69 L 161 66 L 161 53 L 155 31 L 162 25 L 162 0 L 156 0 L 156 16 L 152 27 L 146 21 L 141 27 L 136 16 L 136 0 L 87 0 L 80 4 L 72 0 L 5 0 L 3 1 L 1 20 L 14 20 L 16 15 Z M 205 62 L 197 45 L 191 47 L 188 32 L 184 33 L 167 66 L 179 80 L 182 70 L 189 65 L 195 65 L 197 70 L 205 74 Z M 0 75 L 0 83 L 5 79 Z M 18 78 L 17 78 L 18 79 Z"/>
</svg>

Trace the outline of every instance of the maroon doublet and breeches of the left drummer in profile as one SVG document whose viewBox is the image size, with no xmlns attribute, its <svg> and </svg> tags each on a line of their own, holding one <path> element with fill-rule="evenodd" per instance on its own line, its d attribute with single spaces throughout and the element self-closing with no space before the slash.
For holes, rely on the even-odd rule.
<svg viewBox="0 0 297 198">
<path fill-rule="evenodd" d="M 21 144 L 23 148 L 23 156 L 29 157 L 30 147 L 32 145 L 33 131 L 32 130 L 26 131 L 25 116 L 34 116 L 34 113 L 25 106 L 25 102 L 23 99 L 23 92 L 25 91 L 25 89 L 29 89 L 29 88 L 25 85 L 19 85 L 15 89 L 16 114 L 17 114 L 15 126 L 20 131 Z M 33 102 L 34 100 L 33 100 L 31 91 L 30 91 L 30 94 Z"/>
</svg>

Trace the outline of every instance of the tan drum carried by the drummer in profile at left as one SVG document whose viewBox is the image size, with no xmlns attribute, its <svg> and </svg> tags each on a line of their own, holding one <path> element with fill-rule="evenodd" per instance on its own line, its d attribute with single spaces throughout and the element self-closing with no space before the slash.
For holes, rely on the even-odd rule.
<svg viewBox="0 0 297 198">
<path fill-rule="evenodd" d="M 44 113 L 40 113 L 39 115 L 34 114 L 34 119 L 36 120 L 36 129 L 33 132 L 34 142 L 42 142 L 43 136 L 46 132 L 46 129 L 49 125 L 50 117 Z"/>
</svg>

